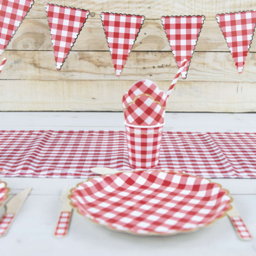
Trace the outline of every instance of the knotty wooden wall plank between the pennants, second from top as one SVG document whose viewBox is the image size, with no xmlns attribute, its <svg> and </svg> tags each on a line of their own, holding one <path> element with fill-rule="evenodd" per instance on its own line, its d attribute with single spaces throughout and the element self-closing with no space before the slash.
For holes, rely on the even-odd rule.
<svg viewBox="0 0 256 256">
<path fill-rule="evenodd" d="M 25 19 L 6 49 L 52 51 L 47 20 Z M 109 50 L 100 19 L 87 20 L 72 50 Z M 144 22 L 132 51 L 171 51 L 160 20 L 146 20 Z M 195 51 L 229 52 L 216 19 L 205 20 Z M 256 52 L 256 40 L 252 40 L 250 52 Z"/>
</svg>

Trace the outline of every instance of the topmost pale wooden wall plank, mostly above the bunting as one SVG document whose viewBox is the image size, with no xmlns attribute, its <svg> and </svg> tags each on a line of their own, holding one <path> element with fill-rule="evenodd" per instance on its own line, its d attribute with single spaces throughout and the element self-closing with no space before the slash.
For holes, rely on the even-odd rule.
<svg viewBox="0 0 256 256">
<path fill-rule="evenodd" d="M 44 0 L 37 0 L 27 18 L 45 18 L 44 3 Z M 88 9 L 91 13 L 130 13 L 145 15 L 146 18 L 193 14 L 204 14 L 210 18 L 217 13 L 256 9 L 254 0 L 55 0 L 54 4 Z"/>
</svg>

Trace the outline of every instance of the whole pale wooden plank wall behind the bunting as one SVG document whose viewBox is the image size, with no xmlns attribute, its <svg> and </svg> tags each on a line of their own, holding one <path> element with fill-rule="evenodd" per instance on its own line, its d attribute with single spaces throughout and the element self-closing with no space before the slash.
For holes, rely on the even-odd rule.
<svg viewBox="0 0 256 256">
<path fill-rule="evenodd" d="M 187 79 L 179 80 L 168 111 L 256 112 L 256 39 L 243 74 L 238 74 L 217 13 L 256 9 L 255 0 L 55 0 L 90 10 L 61 71 L 56 71 L 43 0 L 31 11 L 4 51 L 0 110 L 120 111 L 122 95 L 148 78 L 167 91 L 177 65 L 160 20 L 146 19 L 122 75 L 114 67 L 102 28 L 101 11 L 145 15 L 204 14 L 206 20 Z"/>
</svg>

